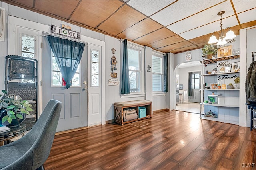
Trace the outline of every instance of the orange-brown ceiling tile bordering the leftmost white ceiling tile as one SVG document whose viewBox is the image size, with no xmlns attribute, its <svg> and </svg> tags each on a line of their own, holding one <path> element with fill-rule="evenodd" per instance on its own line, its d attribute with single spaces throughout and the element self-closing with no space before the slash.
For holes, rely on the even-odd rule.
<svg viewBox="0 0 256 170">
<path fill-rule="evenodd" d="M 108 20 L 104 21 L 98 29 L 112 35 L 118 35 L 144 18 L 146 18 L 145 15 L 127 5 L 124 5 L 115 14 L 108 18 Z"/>
</svg>

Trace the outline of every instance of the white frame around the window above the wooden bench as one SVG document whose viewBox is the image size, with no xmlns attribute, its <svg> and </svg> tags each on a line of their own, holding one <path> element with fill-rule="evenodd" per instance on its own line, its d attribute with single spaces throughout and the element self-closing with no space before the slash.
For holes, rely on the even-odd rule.
<svg viewBox="0 0 256 170">
<path fill-rule="evenodd" d="M 142 45 L 137 45 L 132 42 L 127 42 L 127 48 L 129 49 L 134 49 L 140 51 L 140 56 L 139 56 L 139 66 L 140 66 L 140 92 L 130 92 L 128 94 L 120 94 L 121 98 L 133 98 L 133 97 L 144 97 L 145 96 L 145 69 L 144 69 L 144 46 Z M 129 56 L 128 56 L 129 60 Z"/>
</svg>

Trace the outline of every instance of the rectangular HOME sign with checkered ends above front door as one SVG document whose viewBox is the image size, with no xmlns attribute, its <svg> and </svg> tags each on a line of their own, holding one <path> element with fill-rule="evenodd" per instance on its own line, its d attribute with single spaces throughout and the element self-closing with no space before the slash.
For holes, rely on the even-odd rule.
<svg viewBox="0 0 256 170">
<path fill-rule="evenodd" d="M 57 27 L 55 25 L 51 25 L 51 33 L 55 33 L 58 35 L 62 35 L 62 36 L 70 37 L 70 38 L 74 38 L 74 39 L 81 39 L 81 33 L 76 32 L 76 31 L 71 31 L 66 28 Z"/>
</svg>

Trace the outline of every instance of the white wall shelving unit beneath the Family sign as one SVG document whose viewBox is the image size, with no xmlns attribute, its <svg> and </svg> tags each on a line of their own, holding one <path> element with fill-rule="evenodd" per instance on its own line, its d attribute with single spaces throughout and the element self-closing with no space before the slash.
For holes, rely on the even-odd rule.
<svg viewBox="0 0 256 170">
<path fill-rule="evenodd" d="M 200 61 L 202 63 L 202 67 L 206 64 L 218 65 L 218 61 L 225 61 L 231 59 L 239 59 L 240 55 L 231 55 L 226 57 L 218 57 L 213 59 L 205 59 Z M 202 79 L 205 83 L 211 84 L 216 83 L 218 81 L 218 76 L 228 74 L 232 76 L 232 74 L 237 74 L 238 72 L 224 72 L 224 73 L 216 73 L 216 74 L 202 74 Z M 227 84 L 227 83 L 225 83 Z M 204 103 L 204 100 L 208 100 L 208 96 L 212 96 L 211 94 L 215 92 L 215 95 L 218 95 L 218 102 L 216 104 Z M 235 125 L 239 124 L 239 89 L 202 89 L 202 100 L 201 105 L 204 105 L 204 113 L 208 111 L 212 111 L 214 114 L 217 114 L 217 118 L 204 116 L 204 113 L 200 114 L 201 119 L 207 119 L 212 121 L 219 121 L 224 123 L 232 123 Z M 238 105 L 237 105 L 238 103 Z M 201 107 L 202 108 L 202 107 Z"/>
</svg>

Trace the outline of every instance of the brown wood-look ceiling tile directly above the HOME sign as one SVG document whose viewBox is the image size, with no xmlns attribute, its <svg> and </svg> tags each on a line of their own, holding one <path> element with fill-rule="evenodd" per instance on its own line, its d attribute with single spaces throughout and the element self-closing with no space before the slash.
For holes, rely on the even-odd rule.
<svg viewBox="0 0 256 170">
<path fill-rule="evenodd" d="M 78 2 L 79 0 L 66 0 L 62 3 L 58 0 L 35 0 L 35 8 L 68 19 Z"/>
</svg>

